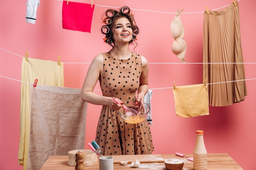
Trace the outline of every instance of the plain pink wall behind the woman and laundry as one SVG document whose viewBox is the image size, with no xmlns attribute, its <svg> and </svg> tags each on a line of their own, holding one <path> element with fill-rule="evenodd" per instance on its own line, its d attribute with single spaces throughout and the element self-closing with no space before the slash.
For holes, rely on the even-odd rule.
<svg viewBox="0 0 256 170">
<path fill-rule="evenodd" d="M 153 90 L 150 126 L 153 154 L 193 153 L 195 131 L 204 130 L 208 153 L 228 153 L 243 169 L 255 168 L 256 74 L 255 0 L 240 0 L 240 31 L 248 96 L 228 107 L 209 107 L 209 116 L 181 118 L 175 115 L 176 86 L 202 83 L 203 11 L 221 10 L 232 0 L 95 0 L 91 33 L 62 28 L 62 1 L 41 0 L 36 23 L 25 20 L 26 0 L 1 1 L 0 5 L 0 169 L 22 170 L 18 164 L 20 138 L 20 78 L 25 52 L 29 58 L 64 63 L 65 87 L 81 88 L 89 63 L 110 49 L 103 43 L 101 15 L 109 7 L 128 6 L 140 29 L 136 52 L 148 59 L 149 88 Z M 90 0 L 75 2 L 91 3 Z M 171 51 L 170 24 L 175 11 L 184 9 L 186 64 Z M 220 8 L 220 9 L 218 9 Z M 131 48 L 132 49 L 132 48 Z M 191 64 L 190 64 L 191 63 Z M 3 77 L 4 76 L 4 77 Z M 7 78 L 6 78 L 7 77 Z M 12 79 L 11 79 L 12 78 Z M 14 79 L 14 80 L 13 80 Z M 18 80 L 18 81 L 16 81 Z M 96 89 L 99 89 L 97 85 Z M 95 91 L 101 93 L 100 91 Z M 85 143 L 94 140 L 101 106 L 88 104 Z M 89 149 L 85 146 L 86 149 Z"/>
</svg>

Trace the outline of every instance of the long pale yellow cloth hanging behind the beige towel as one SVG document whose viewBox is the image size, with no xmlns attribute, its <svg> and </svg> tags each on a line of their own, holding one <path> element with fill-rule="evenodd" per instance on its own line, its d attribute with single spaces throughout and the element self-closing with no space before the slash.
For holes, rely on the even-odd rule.
<svg viewBox="0 0 256 170">
<path fill-rule="evenodd" d="M 27 170 L 27 158 L 29 150 L 30 134 L 30 84 L 38 79 L 37 84 L 64 86 L 63 63 L 58 65 L 55 61 L 45 61 L 26 57 L 22 59 L 20 90 L 20 145 L 18 152 L 18 163 Z"/>
</svg>

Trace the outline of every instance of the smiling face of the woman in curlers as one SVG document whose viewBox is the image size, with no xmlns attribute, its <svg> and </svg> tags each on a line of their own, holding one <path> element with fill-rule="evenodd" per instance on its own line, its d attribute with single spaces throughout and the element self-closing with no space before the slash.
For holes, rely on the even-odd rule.
<svg viewBox="0 0 256 170">
<path fill-rule="evenodd" d="M 132 26 L 126 17 L 118 18 L 113 27 L 113 39 L 117 43 L 129 43 L 132 39 Z"/>
</svg>

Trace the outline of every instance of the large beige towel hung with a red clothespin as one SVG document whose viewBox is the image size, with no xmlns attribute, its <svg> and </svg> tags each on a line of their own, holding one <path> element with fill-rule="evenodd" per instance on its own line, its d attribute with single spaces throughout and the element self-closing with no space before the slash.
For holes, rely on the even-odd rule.
<svg viewBox="0 0 256 170">
<path fill-rule="evenodd" d="M 84 149 L 87 102 L 81 89 L 31 84 L 30 94 L 27 170 L 40 170 L 49 156 Z"/>
</svg>

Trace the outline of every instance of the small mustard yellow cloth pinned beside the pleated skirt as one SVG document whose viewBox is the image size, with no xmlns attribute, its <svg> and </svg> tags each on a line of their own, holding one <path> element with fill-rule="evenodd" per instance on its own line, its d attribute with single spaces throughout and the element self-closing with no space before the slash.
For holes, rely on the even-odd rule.
<svg viewBox="0 0 256 170">
<path fill-rule="evenodd" d="M 173 87 L 175 113 L 190 118 L 209 115 L 207 84 Z"/>
</svg>

